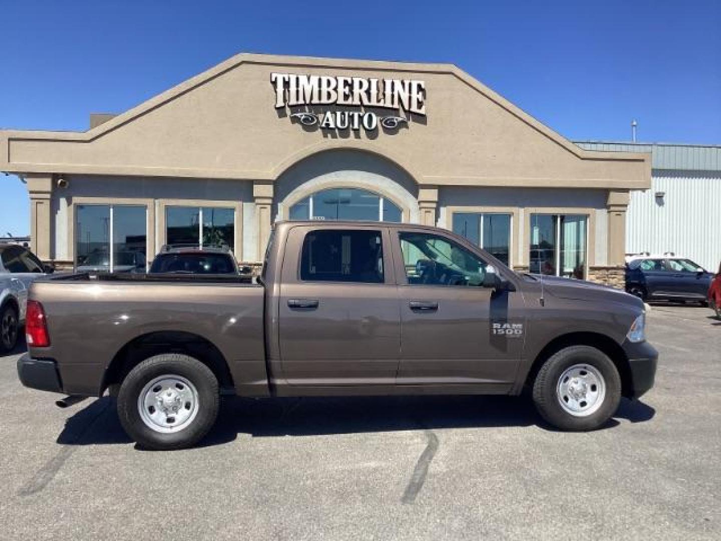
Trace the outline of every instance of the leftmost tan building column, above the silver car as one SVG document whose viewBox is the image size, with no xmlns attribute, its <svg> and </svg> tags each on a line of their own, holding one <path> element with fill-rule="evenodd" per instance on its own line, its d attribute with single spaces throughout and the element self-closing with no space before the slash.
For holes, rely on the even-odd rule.
<svg viewBox="0 0 721 541">
<path fill-rule="evenodd" d="M 30 247 L 40 260 L 52 260 L 55 245 L 55 227 L 50 212 L 53 175 L 27 173 L 22 176 L 30 193 Z"/>
</svg>

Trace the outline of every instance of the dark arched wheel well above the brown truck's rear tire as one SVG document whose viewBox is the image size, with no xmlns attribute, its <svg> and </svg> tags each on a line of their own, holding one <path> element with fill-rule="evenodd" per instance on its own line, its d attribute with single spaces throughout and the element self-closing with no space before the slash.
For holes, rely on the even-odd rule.
<svg viewBox="0 0 721 541">
<path fill-rule="evenodd" d="M 122 383 L 125 376 L 142 361 L 161 353 L 185 353 L 208 366 L 221 387 L 234 386 L 223 353 L 209 340 L 184 331 L 159 331 L 138 336 L 120 348 L 105 371 L 100 394 L 111 385 Z"/>
</svg>

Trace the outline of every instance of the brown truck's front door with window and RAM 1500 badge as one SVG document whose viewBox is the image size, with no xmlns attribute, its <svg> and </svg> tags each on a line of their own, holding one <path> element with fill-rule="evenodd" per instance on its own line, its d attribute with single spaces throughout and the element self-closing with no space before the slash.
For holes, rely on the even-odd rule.
<svg viewBox="0 0 721 541">
<path fill-rule="evenodd" d="M 510 384 L 523 351 L 523 299 L 483 286 L 490 265 L 444 234 L 400 230 L 398 384 Z"/>
</svg>

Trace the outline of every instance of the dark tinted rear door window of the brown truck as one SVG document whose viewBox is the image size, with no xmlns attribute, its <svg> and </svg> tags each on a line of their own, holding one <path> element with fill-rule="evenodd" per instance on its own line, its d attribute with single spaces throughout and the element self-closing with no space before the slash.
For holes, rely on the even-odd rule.
<svg viewBox="0 0 721 541">
<path fill-rule="evenodd" d="M 383 283 L 380 231 L 318 229 L 306 234 L 301 280 Z"/>
</svg>

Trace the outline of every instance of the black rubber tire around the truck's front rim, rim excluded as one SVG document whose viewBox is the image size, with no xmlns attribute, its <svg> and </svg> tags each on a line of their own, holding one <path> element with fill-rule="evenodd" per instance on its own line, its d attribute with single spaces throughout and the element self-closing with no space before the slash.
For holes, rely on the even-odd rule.
<svg viewBox="0 0 721 541">
<path fill-rule="evenodd" d="M 585 416 L 567 412 L 559 402 L 559 379 L 571 366 L 588 365 L 600 372 L 606 385 L 598 409 Z M 565 431 L 590 431 L 605 425 L 616 413 L 621 400 L 621 377 L 605 353 L 590 346 L 570 346 L 554 353 L 536 375 L 533 390 L 536 409 L 552 426 Z"/>
</svg>

